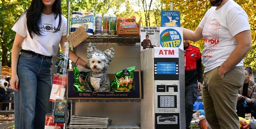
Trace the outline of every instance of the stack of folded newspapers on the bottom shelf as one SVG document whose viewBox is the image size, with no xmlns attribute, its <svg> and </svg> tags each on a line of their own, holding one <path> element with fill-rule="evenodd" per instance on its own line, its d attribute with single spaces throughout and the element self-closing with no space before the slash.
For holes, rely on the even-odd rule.
<svg viewBox="0 0 256 129">
<path fill-rule="evenodd" d="M 69 127 L 72 128 L 106 128 L 111 120 L 108 117 L 72 115 Z"/>
</svg>

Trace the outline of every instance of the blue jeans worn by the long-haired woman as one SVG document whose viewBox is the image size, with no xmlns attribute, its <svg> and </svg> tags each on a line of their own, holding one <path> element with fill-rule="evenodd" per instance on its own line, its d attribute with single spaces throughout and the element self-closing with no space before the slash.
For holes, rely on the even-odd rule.
<svg viewBox="0 0 256 129">
<path fill-rule="evenodd" d="M 19 89 L 14 93 L 15 129 L 43 129 L 45 114 L 52 112 L 49 101 L 52 60 L 21 52 L 17 75 Z"/>
</svg>

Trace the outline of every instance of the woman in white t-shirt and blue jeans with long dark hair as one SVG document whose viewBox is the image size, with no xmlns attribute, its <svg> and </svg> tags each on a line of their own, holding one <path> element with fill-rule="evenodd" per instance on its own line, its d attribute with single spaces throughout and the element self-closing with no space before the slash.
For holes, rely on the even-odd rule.
<svg viewBox="0 0 256 129">
<path fill-rule="evenodd" d="M 11 80 L 15 90 L 15 129 L 43 129 L 45 114 L 52 112 L 52 56 L 57 54 L 59 44 L 62 52 L 65 49 L 67 19 L 61 12 L 61 0 L 32 0 L 12 30 L 16 32 Z M 69 57 L 88 68 L 71 50 Z"/>
</svg>

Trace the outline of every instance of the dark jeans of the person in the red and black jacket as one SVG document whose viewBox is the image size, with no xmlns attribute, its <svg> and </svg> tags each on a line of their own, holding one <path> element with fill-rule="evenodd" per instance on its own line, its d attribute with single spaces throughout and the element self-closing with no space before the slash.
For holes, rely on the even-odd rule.
<svg viewBox="0 0 256 129">
<path fill-rule="evenodd" d="M 194 103 L 197 99 L 197 84 L 191 84 L 185 86 L 185 117 L 186 117 L 186 128 L 190 127 L 192 120 Z"/>
</svg>

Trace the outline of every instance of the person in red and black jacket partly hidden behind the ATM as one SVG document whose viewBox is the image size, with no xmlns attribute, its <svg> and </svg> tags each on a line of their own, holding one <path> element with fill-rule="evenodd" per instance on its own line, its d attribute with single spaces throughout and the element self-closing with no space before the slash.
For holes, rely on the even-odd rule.
<svg viewBox="0 0 256 129">
<path fill-rule="evenodd" d="M 193 105 L 197 92 L 202 91 L 203 69 L 199 48 L 183 39 L 185 61 L 185 116 L 186 129 L 189 129 L 193 114 Z"/>
</svg>

